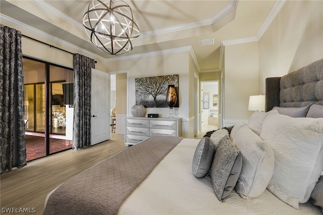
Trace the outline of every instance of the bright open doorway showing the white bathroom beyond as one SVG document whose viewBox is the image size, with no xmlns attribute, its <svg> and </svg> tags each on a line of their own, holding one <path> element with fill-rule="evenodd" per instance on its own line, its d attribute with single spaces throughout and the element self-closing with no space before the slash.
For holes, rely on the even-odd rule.
<svg viewBox="0 0 323 215">
<path fill-rule="evenodd" d="M 201 81 L 201 132 L 219 128 L 219 81 Z"/>
</svg>

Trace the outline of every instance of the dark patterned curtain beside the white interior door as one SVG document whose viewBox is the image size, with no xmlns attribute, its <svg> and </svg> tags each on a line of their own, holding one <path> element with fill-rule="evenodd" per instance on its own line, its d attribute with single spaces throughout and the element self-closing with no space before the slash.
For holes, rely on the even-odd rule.
<svg viewBox="0 0 323 215">
<path fill-rule="evenodd" d="M 74 67 L 74 123 L 73 149 L 91 145 L 91 68 L 95 62 L 75 54 Z"/>
</svg>

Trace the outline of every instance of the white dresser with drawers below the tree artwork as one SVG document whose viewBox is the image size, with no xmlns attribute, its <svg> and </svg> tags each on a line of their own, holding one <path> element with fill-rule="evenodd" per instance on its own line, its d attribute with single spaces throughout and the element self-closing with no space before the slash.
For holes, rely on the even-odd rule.
<svg viewBox="0 0 323 215">
<path fill-rule="evenodd" d="M 125 145 L 134 145 L 154 135 L 182 136 L 182 118 L 125 118 Z"/>
</svg>

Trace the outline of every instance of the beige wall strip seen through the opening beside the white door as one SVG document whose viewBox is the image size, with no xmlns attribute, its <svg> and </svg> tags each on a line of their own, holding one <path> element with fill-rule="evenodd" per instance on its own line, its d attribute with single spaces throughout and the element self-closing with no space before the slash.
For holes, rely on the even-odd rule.
<svg viewBox="0 0 323 215">
<path fill-rule="evenodd" d="M 127 73 L 116 74 L 116 113 L 127 114 Z"/>
</svg>

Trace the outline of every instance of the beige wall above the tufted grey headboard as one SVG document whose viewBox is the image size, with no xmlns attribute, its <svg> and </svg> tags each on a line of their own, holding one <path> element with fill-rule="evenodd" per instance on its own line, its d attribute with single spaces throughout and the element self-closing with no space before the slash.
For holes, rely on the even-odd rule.
<svg viewBox="0 0 323 215">
<path fill-rule="evenodd" d="M 259 40 L 259 92 L 280 77 L 323 58 L 323 1 L 287 1 Z"/>
</svg>

